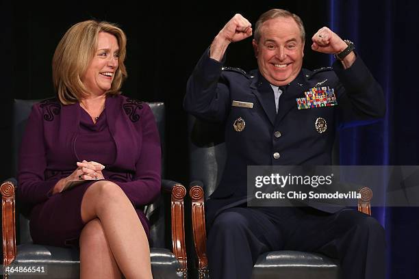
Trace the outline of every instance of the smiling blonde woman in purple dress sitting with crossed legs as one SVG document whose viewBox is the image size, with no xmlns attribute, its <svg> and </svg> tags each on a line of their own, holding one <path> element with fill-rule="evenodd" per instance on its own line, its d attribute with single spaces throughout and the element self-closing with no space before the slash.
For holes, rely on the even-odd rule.
<svg viewBox="0 0 419 279">
<path fill-rule="evenodd" d="M 58 98 L 34 105 L 18 166 L 34 243 L 75 245 L 81 278 L 152 278 L 149 222 L 160 194 L 160 139 L 146 103 L 120 95 L 126 37 L 73 25 L 53 56 Z"/>
</svg>

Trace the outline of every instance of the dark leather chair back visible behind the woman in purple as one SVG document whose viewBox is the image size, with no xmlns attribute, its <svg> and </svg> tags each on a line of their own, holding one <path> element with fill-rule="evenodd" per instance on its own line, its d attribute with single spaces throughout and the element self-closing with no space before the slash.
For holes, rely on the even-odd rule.
<svg viewBox="0 0 419 279">
<path fill-rule="evenodd" d="M 18 164 L 18 150 L 21 146 L 21 140 L 23 133 L 25 132 L 27 118 L 31 112 L 31 107 L 34 103 L 37 103 L 40 100 L 14 100 L 14 114 L 13 114 L 13 176 L 16 177 L 17 174 L 17 164 Z M 165 144 L 164 144 L 164 126 L 165 126 L 165 110 L 164 103 L 154 102 L 148 103 L 153 111 L 155 120 L 157 122 L 157 128 L 160 133 L 160 141 L 162 142 L 162 177 L 164 177 L 164 154 L 165 154 Z M 24 212 L 24 205 L 19 204 L 18 200 L 17 207 L 21 209 L 20 212 Z M 157 204 L 162 204 L 163 200 L 160 198 L 155 201 L 155 203 L 150 204 L 147 209 L 145 209 L 147 217 L 151 221 L 150 227 L 150 237 L 151 237 L 151 246 L 157 248 L 164 248 L 165 245 L 165 226 L 164 226 L 164 211 L 161 210 L 163 207 L 157 207 Z M 18 218 L 18 243 L 31 243 L 31 235 L 29 233 L 29 220 L 23 214 L 19 214 Z"/>
</svg>

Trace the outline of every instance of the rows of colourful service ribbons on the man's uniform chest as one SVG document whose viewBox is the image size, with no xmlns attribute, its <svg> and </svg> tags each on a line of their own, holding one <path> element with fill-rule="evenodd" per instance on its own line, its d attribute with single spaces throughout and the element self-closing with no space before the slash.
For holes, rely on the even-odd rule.
<svg viewBox="0 0 419 279">
<path fill-rule="evenodd" d="M 312 107 L 331 107 L 338 105 L 333 88 L 310 88 L 304 92 L 305 98 L 296 98 L 298 109 L 310 109 Z"/>
</svg>

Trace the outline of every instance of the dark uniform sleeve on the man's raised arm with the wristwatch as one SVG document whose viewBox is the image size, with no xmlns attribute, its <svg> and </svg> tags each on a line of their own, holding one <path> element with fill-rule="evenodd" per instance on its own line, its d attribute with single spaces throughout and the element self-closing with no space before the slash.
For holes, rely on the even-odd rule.
<svg viewBox="0 0 419 279">
<path fill-rule="evenodd" d="M 333 69 L 340 81 L 338 92 L 342 92 L 338 96 L 341 127 L 385 115 L 383 90 L 359 56 L 350 68 L 344 69 L 337 61 Z"/>
</svg>

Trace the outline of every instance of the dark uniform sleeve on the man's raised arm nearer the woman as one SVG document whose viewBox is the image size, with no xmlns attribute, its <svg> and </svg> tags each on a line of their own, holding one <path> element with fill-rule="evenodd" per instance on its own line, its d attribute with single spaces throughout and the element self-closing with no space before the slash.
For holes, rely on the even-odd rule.
<svg viewBox="0 0 419 279">
<path fill-rule="evenodd" d="M 220 79 L 223 62 L 209 57 L 205 51 L 186 85 L 183 108 L 193 116 L 211 121 L 223 121 L 229 109 L 229 88 Z"/>
</svg>

